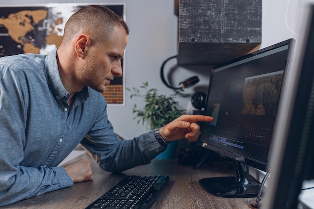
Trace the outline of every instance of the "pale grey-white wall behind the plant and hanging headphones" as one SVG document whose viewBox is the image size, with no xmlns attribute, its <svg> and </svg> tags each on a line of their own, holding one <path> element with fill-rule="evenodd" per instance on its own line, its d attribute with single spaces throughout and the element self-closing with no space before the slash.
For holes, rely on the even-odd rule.
<svg viewBox="0 0 314 209">
<path fill-rule="evenodd" d="M 300 8 L 309 0 L 263 0 L 262 45 L 267 47 L 285 39 L 297 39 L 297 21 L 301 18 Z M 177 17 L 174 15 L 173 0 L 29 0 L 28 5 L 46 3 L 126 3 L 126 22 L 130 28 L 129 42 L 125 54 L 126 87 L 139 87 L 148 81 L 149 87 L 158 88 L 165 94 L 173 90 L 164 86 L 160 80 L 159 69 L 161 63 L 168 57 L 175 55 L 177 50 Z M 8 4 L 6 2 L 6 4 Z M 24 0 L 15 0 L 11 5 L 25 5 Z M 0 6 L 4 3 L 0 3 Z M 175 65 L 175 60 L 165 66 L 167 69 Z M 192 71 L 196 71 L 193 72 Z M 200 82 L 188 89 L 191 95 L 196 90 L 204 90 L 208 84 L 209 67 L 176 68 L 173 72 L 173 85 L 193 75 L 199 75 Z M 124 138 L 130 139 L 146 131 L 141 124 L 133 120 L 132 108 L 143 102 L 130 99 L 130 92 L 126 91 L 125 106 L 108 106 L 108 116 L 115 132 Z M 189 98 L 179 98 L 180 105 L 185 108 Z"/>
</svg>

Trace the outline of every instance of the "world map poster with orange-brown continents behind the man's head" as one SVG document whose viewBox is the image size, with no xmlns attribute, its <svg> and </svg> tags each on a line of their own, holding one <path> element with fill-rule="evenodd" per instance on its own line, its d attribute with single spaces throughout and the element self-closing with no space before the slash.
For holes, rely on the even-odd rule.
<svg viewBox="0 0 314 209">
<path fill-rule="evenodd" d="M 0 57 L 21 53 L 48 54 L 59 47 L 66 21 L 87 4 L 0 7 Z M 124 4 L 104 5 L 125 20 Z M 124 62 L 121 61 L 124 72 Z M 124 77 L 116 77 L 103 93 L 108 104 L 124 104 Z"/>
</svg>

